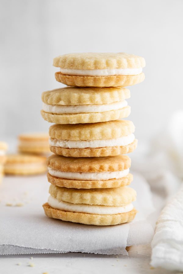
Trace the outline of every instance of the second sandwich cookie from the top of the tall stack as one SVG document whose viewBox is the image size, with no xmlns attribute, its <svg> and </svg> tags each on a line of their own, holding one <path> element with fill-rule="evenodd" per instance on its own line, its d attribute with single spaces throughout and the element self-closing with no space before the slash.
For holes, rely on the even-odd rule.
<svg viewBox="0 0 183 274">
<path fill-rule="evenodd" d="M 42 117 L 55 124 L 83 124 L 129 116 L 125 99 L 130 91 L 119 87 L 61 88 L 42 93 Z"/>
</svg>

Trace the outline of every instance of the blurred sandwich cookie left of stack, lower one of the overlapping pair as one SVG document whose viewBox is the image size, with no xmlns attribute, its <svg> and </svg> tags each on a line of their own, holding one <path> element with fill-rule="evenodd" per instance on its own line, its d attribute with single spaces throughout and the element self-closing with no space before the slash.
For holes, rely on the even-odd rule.
<svg viewBox="0 0 183 274">
<path fill-rule="evenodd" d="M 7 155 L 5 174 L 34 175 L 45 173 L 46 170 L 46 157 L 29 154 Z"/>
</svg>

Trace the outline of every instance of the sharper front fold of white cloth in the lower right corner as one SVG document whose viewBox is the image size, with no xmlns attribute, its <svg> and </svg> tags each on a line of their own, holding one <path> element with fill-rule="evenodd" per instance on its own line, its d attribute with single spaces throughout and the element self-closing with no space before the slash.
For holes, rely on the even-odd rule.
<svg viewBox="0 0 183 274">
<path fill-rule="evenodd" d="M 153 267 L 183 271 L 183 184 L 162 210 L 151 246 Z"/>
</svg>

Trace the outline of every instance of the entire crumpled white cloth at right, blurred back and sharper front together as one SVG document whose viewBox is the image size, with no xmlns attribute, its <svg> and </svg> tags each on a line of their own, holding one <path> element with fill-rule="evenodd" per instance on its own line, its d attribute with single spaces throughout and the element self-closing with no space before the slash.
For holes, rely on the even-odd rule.
<svg viewBox="0 0 183 274">
<path fill-rule="evenodd" d="M 151 186 L 153 197 L 156 197 L 157 212 L 167 202 L 158 218 L 152 240 L 151 264 L 180 271 L 183 271 L 182 140 L 183 110 L 178 110 L 172 115 L 167 128 L 150 145 L 145 147 L 143 142 L 139 142 L 138 155 L 132 155 L 133 167 L 143 174 Z"/>
</svg>

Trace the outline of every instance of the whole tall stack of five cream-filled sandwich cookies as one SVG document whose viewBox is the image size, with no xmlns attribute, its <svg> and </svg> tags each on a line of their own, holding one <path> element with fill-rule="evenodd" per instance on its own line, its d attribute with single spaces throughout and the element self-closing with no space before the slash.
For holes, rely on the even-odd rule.
<svg viewBox="0 0 183 274">
<path fill-rule="evenodd" d="M 126 53 L 78 53 L 54 58 L 56 80 L 67 87 L 42 93 L 42 117 L 51 123 L 47 158 L 48 217 L 92 225 L 135 218 L 136 191 L 128 187 L 137 146 L 124 87 L 144 80 L 142 57 Z M 71 86 L 71 87 L 68 87 Z"/>
</svg>

